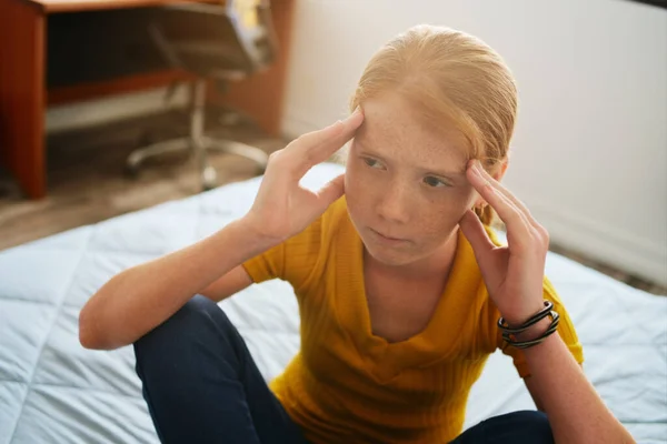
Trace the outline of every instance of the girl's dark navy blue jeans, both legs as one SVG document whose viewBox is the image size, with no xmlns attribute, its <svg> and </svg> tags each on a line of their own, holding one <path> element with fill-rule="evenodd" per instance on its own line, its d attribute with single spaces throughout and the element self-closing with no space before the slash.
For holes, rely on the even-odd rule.
<svg viewBox="0 0 667 444">
<path fill-rule="evenodd" d="M 137 374 L 162 443 L 307 444 L 246 343 L 212 301 L 195 296 L 135 343 Z M 452 443 L 552 443 L 539 412 L 496 416 Z"/>
</svg>

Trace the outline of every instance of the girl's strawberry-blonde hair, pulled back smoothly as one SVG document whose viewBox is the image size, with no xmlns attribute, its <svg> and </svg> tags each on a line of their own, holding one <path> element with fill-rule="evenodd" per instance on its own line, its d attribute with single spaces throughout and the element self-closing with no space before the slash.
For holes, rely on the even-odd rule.
<svg viewBox="0 0 667 444">
<path fill-rule="evenodd" d="M 416 105 L 431 128 L 454 125 L 468 159 L 480 160 L 490 173 L 506 160 L 517 89 L 504 60 L 481 40 L 444 27 L 408 29 L 370 59 L 350 111 L 387 91 Z M 482 223 L 492 223 L 490 206 L 476 213 Z"/>
</svg>

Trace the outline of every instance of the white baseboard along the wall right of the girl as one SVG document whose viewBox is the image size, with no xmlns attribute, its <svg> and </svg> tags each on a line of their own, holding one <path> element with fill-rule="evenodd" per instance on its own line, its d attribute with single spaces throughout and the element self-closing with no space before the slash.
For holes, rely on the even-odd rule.
<svg viewBox="0 0 667 444">
<path fill-rule="evenodd" d="M 619 270 L 636 274 L 659 285 L 667 285 L 667 245 L 658 245 L 635 233 L 620 231 L 571 211 L 524 201 L 536 219 L 549 231 L 552 242 L 600 261 Z"/>
</svg>

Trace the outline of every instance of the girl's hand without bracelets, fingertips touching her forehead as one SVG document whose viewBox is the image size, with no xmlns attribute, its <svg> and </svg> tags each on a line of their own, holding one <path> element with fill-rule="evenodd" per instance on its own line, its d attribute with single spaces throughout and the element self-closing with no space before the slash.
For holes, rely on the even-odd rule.
<svg viewBox="0 0 667 444">
<path fill-rule="evenodd" d="M 319 191 L 302 188 L 308 170 L 329 159 L 354 135 L 364 114 L 357 109 L 349 118 L 293 140 L 269 157 L 269 163 L 252 208 L 245 216 L 257 233 L 280 243 L 303 231 L 344 192 L 344 175 Z"/>
</svg>

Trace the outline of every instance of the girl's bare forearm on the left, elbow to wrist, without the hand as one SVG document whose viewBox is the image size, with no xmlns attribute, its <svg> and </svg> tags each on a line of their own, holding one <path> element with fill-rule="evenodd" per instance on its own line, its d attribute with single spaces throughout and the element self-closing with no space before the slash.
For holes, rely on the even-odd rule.
<svg viewBox="0 0 667 444">
<path fill-rule="evenodd" d="M 81 311 L 81 344 L 106 350 L 131 344 L 202 289 L 218 299 L 241 290 L 250 279 L 239 276 L 245 273 L 240 264 L 273 244 L 248 221 L 238 220 L 186 249 L 117 274 Z"/>
</svg>

